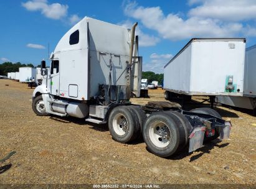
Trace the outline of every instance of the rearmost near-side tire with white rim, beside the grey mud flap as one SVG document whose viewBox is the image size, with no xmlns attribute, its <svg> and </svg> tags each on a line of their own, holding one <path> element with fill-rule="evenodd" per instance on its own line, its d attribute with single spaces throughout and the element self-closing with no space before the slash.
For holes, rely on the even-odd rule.
<svg viewBox="0 0 256 189">
<path fill-rule="evenodd" d="M 169 157 L 179 148 L 181 136 L 176 120 L 170 113 L 153 113 L 143 126 L 143 139 L 150 152 Z M 185 140 L 185 139 L 184 139 Z"/>
</svg>

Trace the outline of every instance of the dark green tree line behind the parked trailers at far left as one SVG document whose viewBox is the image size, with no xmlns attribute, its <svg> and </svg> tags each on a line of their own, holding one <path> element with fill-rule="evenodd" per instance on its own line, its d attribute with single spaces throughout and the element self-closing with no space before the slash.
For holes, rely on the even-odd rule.
<svg viewBox="0 0 256 189">
<path fill-rule="evenodd" d="M 4 62 L 0 64 L 0 75 L 7 75 L 8 72 L 16 72 L 19 71 L 20 67 L 32 67 L 34 68 L 34 65 L 32 63 L 12 63 L 12 62 Z"/>
</svg>

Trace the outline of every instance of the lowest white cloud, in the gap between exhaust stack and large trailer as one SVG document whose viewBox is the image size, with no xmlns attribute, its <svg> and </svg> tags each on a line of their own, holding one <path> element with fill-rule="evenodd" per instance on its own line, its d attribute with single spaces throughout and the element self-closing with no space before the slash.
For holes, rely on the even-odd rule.
<svg viewBox="0 0 256 189">
<path fill-rule="evenodd" d="M 150 55 L 150 61 L 143 63 L 143 71 L 154 71 L 154 73 L 163 73 L 164 65 L 173 58 L 171 54 L 157 54 L 152 53 Z"/>
</svg>

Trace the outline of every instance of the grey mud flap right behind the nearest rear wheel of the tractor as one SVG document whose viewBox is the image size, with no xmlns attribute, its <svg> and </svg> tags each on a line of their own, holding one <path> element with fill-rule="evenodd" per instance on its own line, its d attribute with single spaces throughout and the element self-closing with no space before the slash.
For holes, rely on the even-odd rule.
<svg viewBox="0 0 256 189">
<path fill-rule="evenodd" d="M 189 152 L 193 152 L 204 146 L 202 145 L 202 142 L 204 142 L 204 132 L 206 132 L 205 126 L 194 127 L 189 136 Z"/>
</svg>

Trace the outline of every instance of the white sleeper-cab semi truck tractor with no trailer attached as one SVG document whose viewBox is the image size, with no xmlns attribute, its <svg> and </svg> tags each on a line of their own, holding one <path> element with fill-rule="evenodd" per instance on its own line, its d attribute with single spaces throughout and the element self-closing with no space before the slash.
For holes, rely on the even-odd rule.
<svg viewBox="0 0 256 189">
<path fill-rule="evenodd" d="M 148 149 L 161 157 L 189 144 L 229 137 L 230 122 L 207 108 L 183 111 L 171 103 L 130 103 L 140 96 L 142 58 L 138 57 L 137 23 L 131 29 L 85 17 L 74 25 L 50 55 L 50 70 L 41 62 L 42 85 L 32 94 L 38 116 L 73 116 L 108 124 L 117 142 L 143 134 Z"/>
</svg>

